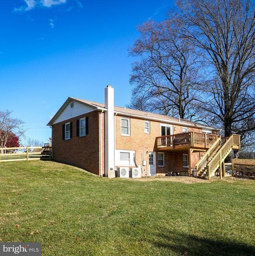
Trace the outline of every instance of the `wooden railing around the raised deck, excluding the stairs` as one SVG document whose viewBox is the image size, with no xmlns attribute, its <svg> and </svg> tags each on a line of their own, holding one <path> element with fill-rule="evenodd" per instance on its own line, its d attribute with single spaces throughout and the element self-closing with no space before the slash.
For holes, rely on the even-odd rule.
<svg viewBox="0 0 255 256">
<path fill-rule="evenodd" d="M 170 147 L 175 145 L 185 145 L 188 144 L 190 147 L 195 146 L 204 146 L 210 147 L 218 139 L 218 135 L 207 134 L 207 133 L 197 133 L 197 132 L 188 132 L 188 133 L 177 133 L 172 135 L 160 136 L 157 137 L 157 147 Z"/>
</svg>

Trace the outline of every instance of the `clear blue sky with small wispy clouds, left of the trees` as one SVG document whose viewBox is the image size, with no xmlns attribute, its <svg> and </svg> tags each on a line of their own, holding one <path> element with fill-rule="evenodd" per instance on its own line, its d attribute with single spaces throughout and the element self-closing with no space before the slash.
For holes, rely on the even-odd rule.
<svg viewBox="0 0 255 256">
<path fill-rule="evenodd" d="M 68 96 L 129 103 L 128 47 L 136 26 L 161 21 L 171 1 L 10 0 L 0 2 L 0 110 L 25 122 L 26 137 L 47 142 L 49 119 Z M 24 139 L 22 139 L 24 143 Z"/>
</svg>

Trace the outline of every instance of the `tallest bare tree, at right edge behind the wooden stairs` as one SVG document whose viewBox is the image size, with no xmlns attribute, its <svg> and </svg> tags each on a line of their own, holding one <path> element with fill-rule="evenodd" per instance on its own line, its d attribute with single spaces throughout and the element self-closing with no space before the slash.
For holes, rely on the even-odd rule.
<svg viewBox="0 0 255 256">
<path fill-rule="evenodd" d="M 255 131 L 255 12 L 249 0 L 179 0 L 182 36 L 206 65 L 196 105 L 224 135 Z"/>
</svg>

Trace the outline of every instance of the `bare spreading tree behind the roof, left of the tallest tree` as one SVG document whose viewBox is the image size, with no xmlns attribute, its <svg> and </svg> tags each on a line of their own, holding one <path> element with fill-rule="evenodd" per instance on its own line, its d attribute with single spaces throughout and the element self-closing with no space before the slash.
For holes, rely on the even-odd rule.
<svg viewBox="0 0 255 256">
<path fill-rule="evenodd" d="M 132 65 L 131 107 L 194 119 L 197 110 L 190 103 L 196 99 L 200 83 L 198 62 L 194 47 L 180 37 L 178 24 L 171 17 L 138 27 L 139 39 L 129 49 L 131 56 L 140 58 Z"/>
</svg>

